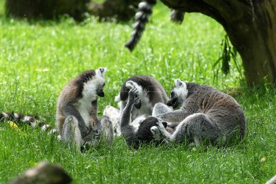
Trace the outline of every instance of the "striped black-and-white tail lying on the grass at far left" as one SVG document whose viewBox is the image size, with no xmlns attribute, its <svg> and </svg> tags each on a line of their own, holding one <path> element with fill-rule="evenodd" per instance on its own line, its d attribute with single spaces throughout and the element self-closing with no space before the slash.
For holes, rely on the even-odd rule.
<svg viewBox="0 0 276 184">
<path fill-rule="evenodd" d="M 0 112 L 0 122 L 4 119 L 12 121 L 17 125 L 26 124 L 33 128 L 39 126 L 43 132 L 48 132 L 48 134 L 57 134 L 57 130 L 51 125 L 46 124 L 44 121 L 39 121 L 38 116 L 24 115 L 19 113 L 10 112 Z"/>
</svg>

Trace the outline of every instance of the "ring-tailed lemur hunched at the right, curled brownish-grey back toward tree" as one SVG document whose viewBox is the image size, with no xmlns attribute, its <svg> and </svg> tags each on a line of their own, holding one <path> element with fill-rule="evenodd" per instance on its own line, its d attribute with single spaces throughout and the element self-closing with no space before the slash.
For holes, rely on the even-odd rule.
<svg viewBox="0 0 276 184">
<path fill-rule="evenodd" d="M 233 97 L 207 85 L 175 80 L 168 105 L 179 110 L 157 115 L 161 121 L 179 123 L 173 134 L 168 133 L 161 123 L 151 128 L 155 139 L 199 145 L 202 141 L 213 145 L 224 145 L 246 134 L 246 118 L 239 103 Z M 155 114 L 166 105 L 158 103 Z"/>
</svg>

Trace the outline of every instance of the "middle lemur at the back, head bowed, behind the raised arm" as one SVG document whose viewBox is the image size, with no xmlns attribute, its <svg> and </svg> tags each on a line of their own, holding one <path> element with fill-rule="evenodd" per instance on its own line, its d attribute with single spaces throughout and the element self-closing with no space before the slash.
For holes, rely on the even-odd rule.
<svg viewBox="0 0 276 184">
<path fill-rule="evenodd" d="M 131 111 L 131 124 L 137 125 L 146 116 L 152 115 L 152 110 L 156 103 L 167 103 L 168 96 L 162 85 L 152 76 L 137 75 L 127 79 L 121 86 L 121 91 L 116 96 L 115 101 L 119 102 L 120 115 L 128 102 L 128 91 L 137 89 L 137 101 Z M 119 128 L 116 130 L 120 132 Z"/>
</svg>

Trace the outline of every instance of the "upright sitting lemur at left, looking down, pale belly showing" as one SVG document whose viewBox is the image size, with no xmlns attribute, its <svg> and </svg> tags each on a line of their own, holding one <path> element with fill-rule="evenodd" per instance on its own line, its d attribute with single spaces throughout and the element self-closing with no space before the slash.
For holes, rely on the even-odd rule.
<svg viewBox="0 0 276 184">
<path fill-rule="evenodd" d="M 107 116 L 97 116 L 97 96 L 104 96 L 106 68 L 88 70 L 72 79 L 57 100 L 56 125 L 63 141 L 95 144 L 102 127 L 108 142 L 112 142 L 112 123 Z"/>
</svg>

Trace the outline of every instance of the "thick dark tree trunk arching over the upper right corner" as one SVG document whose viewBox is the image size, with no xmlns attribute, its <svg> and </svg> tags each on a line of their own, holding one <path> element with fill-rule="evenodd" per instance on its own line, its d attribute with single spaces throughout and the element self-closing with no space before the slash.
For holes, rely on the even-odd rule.
<svg viewBox="0 0 276 184">
<path fill-rule="evenodd" d="M 201 12 L 226 30 L 242 57 L 249 86 L 276 83 L 275 0 L 161 0 L 183 12 Z"/>
</svg>

